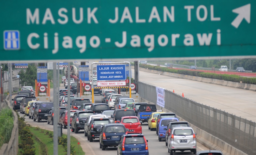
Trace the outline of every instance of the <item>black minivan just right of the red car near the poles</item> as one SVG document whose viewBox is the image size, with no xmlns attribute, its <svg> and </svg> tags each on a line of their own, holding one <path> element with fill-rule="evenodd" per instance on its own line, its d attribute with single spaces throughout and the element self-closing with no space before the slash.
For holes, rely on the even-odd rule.
<svg viewBox="0 0 256 155">
<path fill-rule="evenodd" d="M 77 111 L 74 113 L 71 121 L 72 132 L 78 133 L 79 130 L 85 129 L 85 121 L 87 116 L 94 115 L 93 111 Z"/>
</svg>

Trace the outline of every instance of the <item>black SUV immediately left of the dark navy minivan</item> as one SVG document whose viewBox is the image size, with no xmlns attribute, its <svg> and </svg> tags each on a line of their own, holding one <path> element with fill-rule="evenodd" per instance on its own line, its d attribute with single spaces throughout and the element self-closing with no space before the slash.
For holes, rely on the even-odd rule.
<svg viewBox="0 0 256 155">
<path fill-rule="evenodd" d="M 102 129 L 102 126 L 104 124 L 111 123 L 109 118 L 93 118 L 90 122 L 90 124 L 86 124 L 86 126 L 89 126 L 89 132 L 87 133 L 87 140 L 92 142 L 95 138 L 100 138 L 100 132 Z"/>
</svg>

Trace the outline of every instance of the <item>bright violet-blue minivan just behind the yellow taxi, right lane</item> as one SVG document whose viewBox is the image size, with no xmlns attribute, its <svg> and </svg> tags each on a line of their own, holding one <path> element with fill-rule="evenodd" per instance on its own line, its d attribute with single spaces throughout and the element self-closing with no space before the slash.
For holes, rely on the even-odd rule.
<svg viewBox="0 0 256 155">
<path fill-rule="evenodd" d="M 170 122 L 176 122 L 179 121 L 178 118 L 161 118 L 158 126 L 158 140 L 159 142 L 162 141 L 162 139 L 165 139 L 166 130 L 164 128 L 167 128 L 167 125 Z"/>
</svg>

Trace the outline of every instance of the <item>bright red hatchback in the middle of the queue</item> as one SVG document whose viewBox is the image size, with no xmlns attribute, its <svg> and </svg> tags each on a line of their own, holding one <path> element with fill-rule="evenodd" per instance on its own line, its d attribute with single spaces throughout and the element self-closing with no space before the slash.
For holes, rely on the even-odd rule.
<svg viewBox="0 0 256 155">
<path fill-rule="evenodd" d="M 128 133 L 142 133 L 142 127 L 137 116 L 124 116 L 120 119 L 120 123 L 129 129 Z"/>
</svg>

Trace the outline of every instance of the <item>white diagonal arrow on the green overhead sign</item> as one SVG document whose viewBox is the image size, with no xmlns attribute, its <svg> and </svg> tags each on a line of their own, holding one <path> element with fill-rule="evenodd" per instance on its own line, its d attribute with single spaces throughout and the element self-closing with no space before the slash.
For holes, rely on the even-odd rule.
<svg viewBox="0 0 256 155">
<path fill-rule="evenodd" d="M 240 23 L 245 19 L 247 23 L 250 23 L 251 19 L 251 4 L 247 4 L 241 7 L 238 7 L 232 12 L 237 13 L 238 16 L 234 19 L 234 21 L 231 23 L 235 28 L 238 28 Z"/>
</svg>

